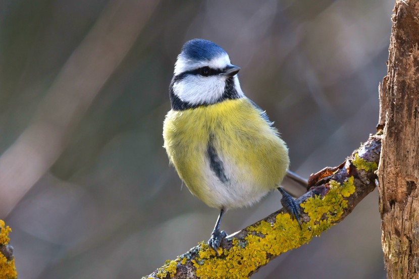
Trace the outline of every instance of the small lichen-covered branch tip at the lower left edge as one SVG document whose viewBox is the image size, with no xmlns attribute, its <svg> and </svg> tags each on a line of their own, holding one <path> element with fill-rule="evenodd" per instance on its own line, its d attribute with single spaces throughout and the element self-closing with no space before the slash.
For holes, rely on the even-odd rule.
<svg viewBox="0 0 419 279">
<path fill-rule="evenodd" d="M 9 245 L 9 233 L 12 230 L 0 220 L 0 279 L 15 279 L 18 273 L 15 268 L 13 247 Z"/>
</svg>

